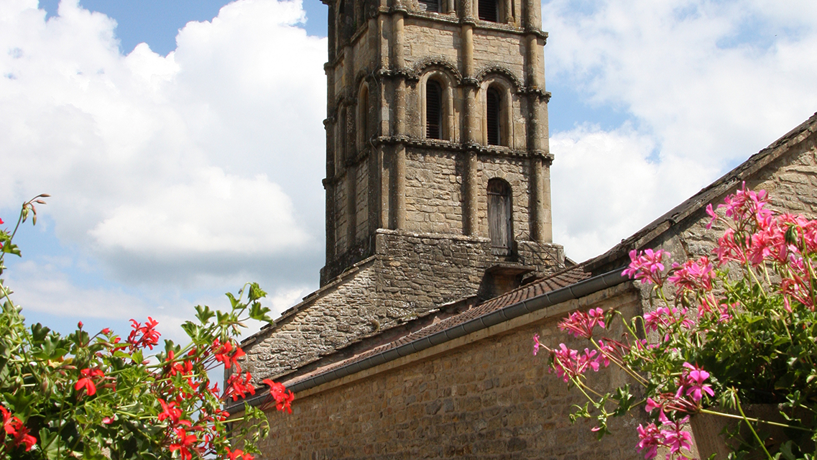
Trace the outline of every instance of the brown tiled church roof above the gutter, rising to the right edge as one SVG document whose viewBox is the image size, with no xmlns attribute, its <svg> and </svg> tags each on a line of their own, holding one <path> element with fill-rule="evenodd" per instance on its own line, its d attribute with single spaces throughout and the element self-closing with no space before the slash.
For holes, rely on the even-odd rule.
<svg viewBox="0 0 817 460">
<path fill-rule="evenodd" d="M 515 309 L 516 306 L 525 306 L 525 312 L 521 312 L 520 309 L 520 312 L 513 313 L 515 316 L 519 316 L 519 314 L 531 311 L 525 305 L 526 303 L 547 298 L 548 295 L 554 295 L 557 297 L 557 299 L 551 301 L 551 304 L 554 304 L 556 302 L 563 302 L 565 300 L 578 298 L 578 296 L 588 295 L 592 292 L 600 291 L 605 287 L 627 281 L 627 279 L 621 277 L 619 273 L 623 268 L 621 265 L 626 262 L 624 257 L 626 257 L 629 250 L 647 246 L 663 232 L 666 232 L 667 229 L 672 228 L 672 226 L 676 223 L 680 223 L 682 220 L 690 217 L 690 215 L 702 209 L 703 206 L 707 205 L 708 203 L 725 195 L 725 193 L 729 192 L 730 189 L 732 189 L 737 183 L 750 178 L 763 166 L 769 165 L 771 161 L 776 160 L 779 158 L 779 156 L 783 155 L 785 151 L 788 151 L 789 147 L 801 142 L 803 139 L 815 132 L 817 132 L 817 113 L 812 115 L 804 123 L 797 126 L 797 128 L 792 129 L 792 131 L 784 135 L 782 138 L 779 138 L 777 141 L 773 142 L 769 147 L 766 147 L 757 154 L 751 156 L 741 165 L 738 165 L 736 168 L 732 169 L 723 177 L 717 179 L 717 181 L 710 184 L 708 187 L 704 187 L 700 192 L 690 197 L 690 199 L 681 203 L 681 205 L 677 205 L 675 208 L 659 217 L 659 219 L 655 219 L 653 222 L 645 226 L 645 228 L 641 228 L 641 230 L 634 233 L 631 237 L 625 238 L 618 245 L 614 246 L 612 249 L 608 250 L 602 255 L 588 259 L 582 264 L 567 268 L 560 273 L 555 273 L 549 277 L 544 277 L 537 281 L 530 282 L 525 286 L 520 286 L 513 291 L 509 291 L 493 299 L 486 300 L 471 309 L 467 309 L 462 313 L 458 313 L 449 318 L 445 318 L 440 322 L 435 322 L 427 327 L 423 327 L 418 331 L 402 336 L 397 340 L 391 341 L 390 343 L 379 345 L 369 350 L 364 350 L 348 359 L 335 363 L 329 363 L 323 367 L 316 368 L 312 372 L 302 374 L 297 377 L 292 377 L 288 381 L 283 381 L 283 384 L 296 391 L 306 390 L 307 388 L 319 385 L 325 381 L 332 381 L 336 378 L 343 377 L 343 375 L 350 375 L 351 373 L 359 372 L 364 368 L 370 368 L 373 365 L 385 363 L 388 360 L 404 355 L 392 353 L 391 355 L 394 356 L 390 358 L 383 358 L 379 361 L 377 359 L 373 359 L 384 356 L 390 350 L 394 351 L 398 349 L 408 349 L 408 354 L 410 354 L 418 351 L 418 349 L 407 347 L 406 345 L 412 345 L 421 340 L 426 340 L 426 342 L 428 342 L 430 341 L 428 340 L 429 337 L 442 337 L 442 339 L 431 340 L 431 343 L 423 345 L 423 348 L 427 348 L 431 345 L 437 345 L 437 343 L 442 343 L 445 340 L 451 340 L 453 337 L 445 338 L 448 336 L 446 333 L 447 331 L 451 331 L 458 327 L 462 329 L 463 325 L 480 322 L 482 318 L 497 317 L 497 313 L 501 313 L 502 318 L 505 319 L 500 319 L 498 321 L 507 321 L 510 318 L 504 314 L 505 311 Z M 605 267 L 611 269 L 611 271 L 609 273 L 593 276 L 594 272 L 599 273 L 599 269 Z M 581 287 L 577 288 L 578 286 Z M 500 310 L 502 310 L 502 312 L 500 312 Z M 484 323 L 484 321 L 482 322 Z M 471 327 L 471 331 L 487 326 L 488 325 L 483 324 L 482 327 L 477 326 L 476 329 Z M 468 327 L 465 329 L 468 329 Z M 470 331 L 466 330 L 466 332 Z M 458 336 L 462 335 L 464 334 Z M 367 362 L 368 364 L 365 366 L 355 367 L 356 363 L 364 362 Z M 338 372 L 339 370 L 348 368 L 351 368 L 351 370 L 347 370 L 346 372 Z M 324 377 L 327 375 L 330 377 Z M 261 398 L 261 396 L 257 398 Z M 248 402 L 252 403 L 251 400 L 248 400 Z"/>
</svg>

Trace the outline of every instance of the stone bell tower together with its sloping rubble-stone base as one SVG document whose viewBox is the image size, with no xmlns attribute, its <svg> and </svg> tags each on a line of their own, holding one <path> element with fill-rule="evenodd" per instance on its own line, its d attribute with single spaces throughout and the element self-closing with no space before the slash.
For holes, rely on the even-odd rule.
<svg viewBox="0 0 817 460">
<path fill-rule="evenodd" d="M 318 291 L 243 343 L 258 379 L 565 267 L 539 0 L 322 1 L 326 265 Z"/>
</svg>

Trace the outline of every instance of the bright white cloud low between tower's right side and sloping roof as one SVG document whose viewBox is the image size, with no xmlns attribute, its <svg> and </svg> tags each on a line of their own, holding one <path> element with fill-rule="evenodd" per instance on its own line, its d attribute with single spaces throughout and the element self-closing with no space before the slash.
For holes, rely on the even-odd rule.
<svg viewBox="0 0 817 460">
<path fill-rule="evenodd" d="M 551 178 L 554 241 L 570 258 L 602 254 L 717 172 L 680 157 L 651 160 L 654 147 L 653 138 L 628 124 L 612 131 L 584 125 L 551 138 L 558 158 Z"/>
</svg>

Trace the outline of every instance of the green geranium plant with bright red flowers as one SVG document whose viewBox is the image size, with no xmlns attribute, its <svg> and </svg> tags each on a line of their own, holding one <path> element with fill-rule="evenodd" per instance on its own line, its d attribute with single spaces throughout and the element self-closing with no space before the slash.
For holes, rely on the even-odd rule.
<svg viewBox="0 0 817 460">
<path fill-rule="evenodd" d="M 29 216 L 36 223 L 35 205 L 46 196 L 23 205 L 12 232 L 0 230 L 0 273 L 5 255 L 20 255 L 13 243 L 20 223 Z M 248 318 L 271 322 L 255 283 L 228 293 L 226 311 L 197 306 L 195 320 L 182 325 L 186 345 L 160 343 L 150 317 L 132 319 L 123 336 L 82 322 L 67 336 L 27 327 L 11 295 L 0 280 L 0 458 L 252 460 L 269 431 L 263 411 L 291 412 L 292 392 L 269 380 L 265 404 L 245 404 L 242 417 L 223 408 L 225 399 L 257 390 L 240 368 L 237 342 Z M 234 369 L 224 390 L 208 377 L 222 365 Z"/>
</svg>

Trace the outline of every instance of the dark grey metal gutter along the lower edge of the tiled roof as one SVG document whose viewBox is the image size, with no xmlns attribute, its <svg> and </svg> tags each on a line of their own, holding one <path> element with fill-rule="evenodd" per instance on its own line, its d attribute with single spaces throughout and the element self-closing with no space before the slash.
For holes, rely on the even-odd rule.
<svg viewBox="0 0 817 460">
<path fill-rule="evenodd" d="M 520 317 L 524 314 L 533 313 L 534 311 L 547 308 L 551 305 L 561 304 L 568 300 L 574 300 L 585 295 L 590 295 L 593 292 L 601 291 L 602 289 L 606 289 L 608 287 L 617 286 L 618 284 L 627 282 L 630 279 L 622 276 L 622 270 L 623 268 L 618 268 L 611 272 L 587 278 L 586 280 L 556 289 L 555 291 L 545 292 L 544 294 L 536 295 L 530 299 L 517 302 L 516 304 L 507 305 L 502 307 L 502 309 L 470 319 L 467 322 L 449 327 L 443 331 L 435 332 L 430 336 L 412 340 L 407 344 L 385 350 L 382 353 L 369 356 L 366 359 L 361 359 L 360 361 L 355 361 L 340 368 L 299 381 L 295 385 L 289 386 L 288 390 L 292 390 L 293 393 L 309 390 L 315 386 L 323 385 L 328 381 L 337 380 L 356 372 L 379 366 L 382 363 L 394 361 L 395 359 L 408 356 L 409 354 L 426 350 L 434 345 L 440 345 L 449 340 L 467 336 L 472 332 L 495 326 L 501 322 L 510 321 L 511 319 Z M 257 395 L 253 396 L 252 398 L 243 399 L 243 402 L 256 406 L 261 404 L 264 399 L 266 399 L 266 393 L 264 395 Z M 241 410 L 243 410 L 243 404 L 235 404 L 227 408 L 227 411 L 230 412 L 230 414 L 238 413 Z"/>
</svg>

